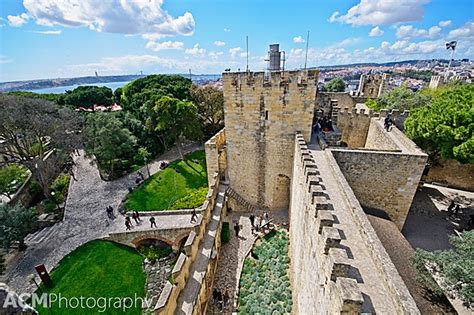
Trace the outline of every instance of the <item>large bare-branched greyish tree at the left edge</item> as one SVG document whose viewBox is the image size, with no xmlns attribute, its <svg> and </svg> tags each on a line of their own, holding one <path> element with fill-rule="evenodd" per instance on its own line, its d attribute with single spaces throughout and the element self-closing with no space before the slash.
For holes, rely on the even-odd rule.
<svg viewBox="0 0 474 315">
<path fill-rule="evenodd" d="M 0 154 L 28 168 L 48 199 L 49 184 L 62 161 L 81 144 L 80 129 L 80 116 L 68 108 L 0 95 L 0 138 L 5 141 Z"/>
</svg>

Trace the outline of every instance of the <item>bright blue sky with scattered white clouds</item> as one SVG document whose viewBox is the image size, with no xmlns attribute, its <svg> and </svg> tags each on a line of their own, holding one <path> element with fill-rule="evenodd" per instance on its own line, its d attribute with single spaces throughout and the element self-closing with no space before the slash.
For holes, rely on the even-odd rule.
<svg viewBox="0 0 474 315">
<path fill-rule="evenodd" d="M 472 0 L 2 0 L 0 81 L 474 58 Z"/>
</svg>

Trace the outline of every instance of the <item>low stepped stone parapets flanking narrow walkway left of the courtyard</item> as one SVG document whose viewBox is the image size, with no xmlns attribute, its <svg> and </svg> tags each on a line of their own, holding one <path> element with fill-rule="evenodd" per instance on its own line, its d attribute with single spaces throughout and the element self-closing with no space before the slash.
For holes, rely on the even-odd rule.
<svg viewBox="0 0 474 315">
<path fill-rule="evenodd" d="M 219 192 L 219 174 L 214 173 L 212 177 L 209 193 L 203 204 L 203 219 L 197 231 L 191 231 L 186 239 L 183 252 L 180 253 L 178 260 L 172 270 L 172 283 L 168 282 L 163 289 L 158 302 L 155 306 L 155 314 L 174 314 L 177 308 L 177 301 L 181 291 L 186 286 L 186 282 L 190 277 L 191 267 L 199 253 L 199 245 L 207 233 L 207 226 L 212 219 L 212 211 L 214 209 L 217 195 Z M 217 253 L 220 249 L 220 231 L 222 228 L 222 220 L 216 232 L 214 248 Z M 217 259 L 210 260 L 206 273 L 202 276 L 200 283 L 200 291 L 196 297 L 194 306 L 194 314 L 203 314 L 207 306 L 207 300 L 210 296 L 212 281 L 216 269 Z"/>
</svg>

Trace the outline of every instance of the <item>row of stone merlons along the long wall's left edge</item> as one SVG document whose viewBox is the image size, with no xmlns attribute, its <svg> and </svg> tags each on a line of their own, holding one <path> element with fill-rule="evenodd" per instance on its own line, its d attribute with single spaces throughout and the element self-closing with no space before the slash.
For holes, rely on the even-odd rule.
<svg viewBox="0 0 474 315">
<path fill-rule="evenodd" d="M 348 233 L 342 228 L 324 179 L 301 133 L 295 137 L 294 159 L 295 170 L 299 168 L 295 173 L 303 176 L 298 181 L 303 185 L 301 192 L 304 194 L 299 198 L 304 201 L 307 212 L 304 222 L 315 240 L 313 250 L 320 257 L 316 261 L 321 277 L 315 285 L 324 287 L 328 296 L 332 297 L 331 313 L 358 313 L 364 299 L 357 282 L 349 275 L 350 270 L 355 268 L 348 256 L 351 249 L 347 245 L 340 247 L 343 236 Z"/>
</svg>

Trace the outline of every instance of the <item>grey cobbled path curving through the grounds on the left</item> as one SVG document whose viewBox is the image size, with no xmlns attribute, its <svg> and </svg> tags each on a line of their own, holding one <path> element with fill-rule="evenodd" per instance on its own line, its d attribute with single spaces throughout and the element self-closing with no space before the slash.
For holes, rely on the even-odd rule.
<svg viewBox="0 0 474 315">
<path fill-rule="evenodd" d="M 201 145 L 192 144 L 185 147 L 185 152 L 202 149 Z M 168 151 L 149 164 L 150 173 L 160 170 L 161 161 L 178 158 L 176 149 Z M 35 290 L 28 278 L 36 274 L 36 265 L 45 264 L 51 270 L 64 256 L 82 244 L 105 237 L 110 232 L 125 230 L 124 216 L 117 214 L 117 209 L 127 195 L 128 187 L 134 186 L 137 173 L 106 182 L 100 178 L 97 167 L 84 156 L 84 152 L 80 152 L 79 156 L 75 155 L 74 160 L 77 181 L 71 179 L 63 221 L 39 232 L 41 234 L 35 236 L 35 242 L 28 247 L 23 257 L 7 271 L 8 285 L 18 293 L 32 293 Z M 145 168 L 141 171 L 144 175 L 147 174 Z M 107 219 L 105 212 L 109 205 L 115 210 L 116 218 L 113 220 Z M 174 220 L 178 226 L 183 220 L 189 221 L 189 215 L 173 215 Z M 158 228 L 160 221 L 160 218 L 156 220 Z M 169 220 L 163 222 L 165 221 Z"/>
</svg>

